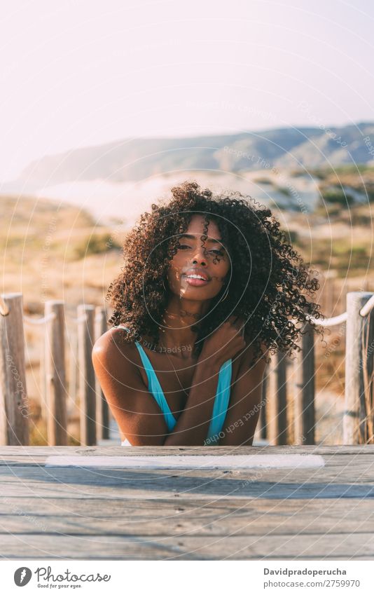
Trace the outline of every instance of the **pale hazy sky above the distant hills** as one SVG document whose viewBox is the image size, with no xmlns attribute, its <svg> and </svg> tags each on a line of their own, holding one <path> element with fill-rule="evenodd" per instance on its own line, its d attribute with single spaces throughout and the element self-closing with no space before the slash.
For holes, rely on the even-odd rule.
<svg viewBox="0 0 374 595">
<path fill-rule="evenodd" d="M 370 0 L 0 7 L 2 181 L 125 137 L 374 120 Z"/>
</svg>

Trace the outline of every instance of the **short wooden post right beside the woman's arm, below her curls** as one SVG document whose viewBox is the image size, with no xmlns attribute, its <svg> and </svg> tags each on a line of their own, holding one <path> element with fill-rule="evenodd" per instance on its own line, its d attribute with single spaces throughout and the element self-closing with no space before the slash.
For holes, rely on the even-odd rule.
<svg viewBox="0 0 374 595">
<path fill-rule="evenodd" d="M 288 444 L 286 355 L 271 356 L 269 375 L 268 438 L 269 444 Z"/>
</svg>

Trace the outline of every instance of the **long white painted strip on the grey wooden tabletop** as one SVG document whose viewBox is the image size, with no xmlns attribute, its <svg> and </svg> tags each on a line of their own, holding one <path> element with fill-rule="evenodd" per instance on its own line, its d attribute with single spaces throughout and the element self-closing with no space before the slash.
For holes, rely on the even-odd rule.
<svg viewBox="0 0 374 595">
<path fill-rule="evenodd" d="M 48 456 L 46 467 L 137 467 L 146 469 L 249 469 L 324 467 L 320 455 L 226 455 L 226 456 Z"/>
</svg>

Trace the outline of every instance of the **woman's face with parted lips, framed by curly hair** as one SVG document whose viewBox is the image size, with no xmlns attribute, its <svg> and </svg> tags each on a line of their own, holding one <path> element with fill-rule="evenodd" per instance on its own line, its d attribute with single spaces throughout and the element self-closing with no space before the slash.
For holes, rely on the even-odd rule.
<svg viewBox="0 0 374 595">
<path fill-rule="evenodd" d="M 214 298 L 221 292 L 230 271 L 230 258 L 221 244 L 221 233 L 215 221 L 209 221 L 207 237 L 204 242 L 201 240 L 205 224 L 202 215 L 193 215 L 188 229 L 179 236 L 180 246 L 167 272 L 172 293 L 185 299 Z"/>
</svg>

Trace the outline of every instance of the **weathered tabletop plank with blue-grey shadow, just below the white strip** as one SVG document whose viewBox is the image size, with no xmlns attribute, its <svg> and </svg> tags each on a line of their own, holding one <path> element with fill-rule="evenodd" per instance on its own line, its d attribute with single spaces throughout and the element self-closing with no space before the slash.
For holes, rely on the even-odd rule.
<svg viewBox="0 0 374 595">
<path fill-rule="evenodd" d="M 63 481 L 63 480 L 62 480 Z M 157 498 L 176 498 L 209 500 L 212 498 L 374 498 L 374 484 L 343 482 L 335 484 L 320 481 L 318 477 L 311 483 L 296 481 L 272 481 L 269 478 L 249 477 L 183 477 L 179 475 L 160 475 L 155 473 L 124 474 L 123 477 L 107 477 L 105 484 L 98 484 L 95 479 L 77 478 L 74 483 L 58 481 L 4 481 L 2 494 L 40 498 L 35 501 L 37 507 L 43 506 L 44 498 L 138 498 L 143 500 Z"/>
</svg>

